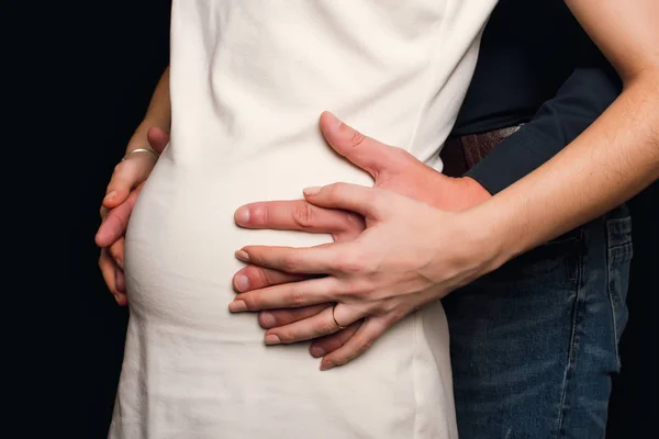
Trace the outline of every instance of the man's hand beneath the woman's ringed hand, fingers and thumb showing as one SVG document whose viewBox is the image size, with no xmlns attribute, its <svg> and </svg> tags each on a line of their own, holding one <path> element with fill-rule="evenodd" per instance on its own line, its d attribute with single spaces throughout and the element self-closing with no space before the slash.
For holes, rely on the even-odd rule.
<svg viewBox="0 0 659 439">
<path fill-rule="evenodd" d="M 383 145 L 340 123 L 331 113 L 321 116 L 321 130 L 327 143 L 342 156 L 367 170 L 375 187 L 423 201 L 444 211 L 461 211 L 479 204 L 491 195 L 478 182 L 468 178 L 449 178 L 400 148 Z M 248 228 L 294 229 L 331 234 L 336 243 L 355 239 L 364 230 L 359 216 L 346 211 L 327 210 L 301 201 L 253 203 L 236 212 L 236 223 Z M 257 266 L 248 266 L 234 277 L 238 292 L 294 282 L 304 275 L 290 274 Z M 321 304 L 295 309 L 263 312 L 259 322 L 275 328 L 313 317 L 330 305 Z M 323 357 L 343 346 L 359 328 L 359 322 L 328 337 L 314 341 L 311 353 Z M 295 340 L 292 340 L 295 341 Z"/>
</svg>

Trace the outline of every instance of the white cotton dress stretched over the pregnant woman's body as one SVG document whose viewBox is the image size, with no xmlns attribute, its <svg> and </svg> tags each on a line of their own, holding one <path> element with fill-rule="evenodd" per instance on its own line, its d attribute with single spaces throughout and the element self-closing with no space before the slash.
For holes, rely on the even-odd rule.
<svg viewBox="0 0 659 439">
<path fill-rule="evenodd" d="M 175 0 L 171 143 L 126 236 L 131 303 L 110 438 L 456 438 L 439 303 L 362 357 L 319 371 L 309 345 L 266 347 L 231 315 L 244 245 L 325 235 L 245 230 L 244 203 L 371 184 L 319 131 L 330 110 L 440 170 L 495 0 Z"/>
</svg>

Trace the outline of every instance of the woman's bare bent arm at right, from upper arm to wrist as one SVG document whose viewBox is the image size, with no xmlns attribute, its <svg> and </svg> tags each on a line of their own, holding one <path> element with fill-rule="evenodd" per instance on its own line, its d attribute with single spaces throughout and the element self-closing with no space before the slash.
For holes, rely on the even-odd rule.
<svg viewBox="0 0 659 439">
<path fill-rule="evenodd" d="M 551 160 L 474 209 L 496 232 L 493 266 L 607 212 L 659 178 L 658 3 L 566 3 L 624 91 Z"/>
</svg>

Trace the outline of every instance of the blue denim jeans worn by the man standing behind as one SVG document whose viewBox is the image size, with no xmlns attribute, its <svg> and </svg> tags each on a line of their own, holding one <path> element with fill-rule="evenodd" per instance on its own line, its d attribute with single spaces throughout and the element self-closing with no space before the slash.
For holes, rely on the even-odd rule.
<svg viewBox="0 0 659 439">
<path fill-rule="evenodd" d="M 604 438 L 630 259 L 623 205 L 444 300 L 460 439 Z"/>
</svg>

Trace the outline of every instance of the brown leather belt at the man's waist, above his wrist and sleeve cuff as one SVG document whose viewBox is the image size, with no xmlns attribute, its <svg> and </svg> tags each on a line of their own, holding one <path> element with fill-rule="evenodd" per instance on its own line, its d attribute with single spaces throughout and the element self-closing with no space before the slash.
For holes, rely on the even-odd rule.
<svg viewBox="0 0 659 439">
<path fill-rule="evenodd" d="M 444 162 L 443 173 L 448 177 L 462 177 L 501 142 L 514 134 L 522 125 L 494 130 L 482 134 L 448 137 L 439 153 Z"/>
</svg>

